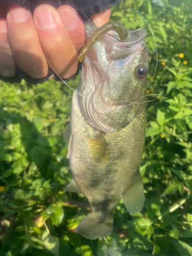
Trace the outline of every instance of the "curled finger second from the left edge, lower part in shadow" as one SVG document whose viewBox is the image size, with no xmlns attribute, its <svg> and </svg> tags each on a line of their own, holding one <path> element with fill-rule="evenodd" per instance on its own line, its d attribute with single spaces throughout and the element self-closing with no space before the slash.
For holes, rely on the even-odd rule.
<svg viewBox="0 0 192 256">
<path fill-rule="evenodd" d="M 7 14 L 8 38 L 17 66 L 30 77 L 40 79 L 48 73 L 48 64 L 40 46 L 30 11 L 12 6 Z"/>
</svg>

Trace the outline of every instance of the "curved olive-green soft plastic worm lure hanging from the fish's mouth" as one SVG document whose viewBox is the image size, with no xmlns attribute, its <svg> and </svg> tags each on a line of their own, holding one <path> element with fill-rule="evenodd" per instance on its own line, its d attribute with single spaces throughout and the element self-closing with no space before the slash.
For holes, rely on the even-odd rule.
<svg viewBox="0 0 192 256">
<path fill-rule="evenodd" d="M 79 56 L 77 57 L 80 62 L 83 61 L 86 54 L 89 52 L 89 50 L 94 46 L 95 42 L 106 32 L 115 30 L 118 35 L 121 42 L 127 42 L 129 41 L 129 34 L 126 31 L 125 27 L 120 24 L 119 22 L 108 22 L 98 28 L 95 33 L 89 38 L 87 41 L 87 44 L 83 47 L 81 52 L 79 53 Z"/>
</svg>

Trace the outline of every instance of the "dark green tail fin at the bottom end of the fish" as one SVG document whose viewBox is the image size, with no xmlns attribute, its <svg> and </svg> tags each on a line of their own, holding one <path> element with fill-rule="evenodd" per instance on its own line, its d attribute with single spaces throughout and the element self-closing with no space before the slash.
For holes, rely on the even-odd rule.
<svg viewBox="0 0 192 256">
<path fill-rule="evenodd" d="M 76 232 L 87 239 L 103 239 L 105 236 L 113 231 L 113 215 L 107 222 L 100 222 L 92 217 L 90 213 L 84 220 L 82 220 L 76 228 Z"/>
</svg>

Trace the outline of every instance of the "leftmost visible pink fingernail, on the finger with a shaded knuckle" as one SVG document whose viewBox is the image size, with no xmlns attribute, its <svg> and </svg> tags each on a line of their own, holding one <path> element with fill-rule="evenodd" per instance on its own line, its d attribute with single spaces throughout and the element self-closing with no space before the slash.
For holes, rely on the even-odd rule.
<svg viewBox="0 0 192 256">
<path fill-rule="evenodd" d="M 9 13 L 12 22 L 26 22 L 31 15 L 30 11 L 22 7 L 10 9 Z"/>
</svg>

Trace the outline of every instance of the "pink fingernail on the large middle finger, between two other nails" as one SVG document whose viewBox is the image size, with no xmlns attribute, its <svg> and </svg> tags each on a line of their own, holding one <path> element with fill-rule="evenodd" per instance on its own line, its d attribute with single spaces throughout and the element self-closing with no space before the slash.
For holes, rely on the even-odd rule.
<svg viewBox="0 0 192 256">
<path fill-rule="evenodd" d="M 52 29 L 57 26 L 55 15 L 50 8 L 40 8 L 35 18 L 40 29 Z"/>
</svg>

